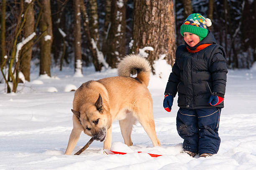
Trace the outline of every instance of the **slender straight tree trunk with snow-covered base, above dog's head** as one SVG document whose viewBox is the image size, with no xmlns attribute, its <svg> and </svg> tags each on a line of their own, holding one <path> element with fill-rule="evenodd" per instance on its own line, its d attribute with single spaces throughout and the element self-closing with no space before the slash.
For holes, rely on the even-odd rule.
<svg viewBox="0 0 256 170">
<path fill-rule="evenodd" d="M 82 76 L 80 0 L 73 0 L 74 8 L 74 76 Z"/>
</svg>

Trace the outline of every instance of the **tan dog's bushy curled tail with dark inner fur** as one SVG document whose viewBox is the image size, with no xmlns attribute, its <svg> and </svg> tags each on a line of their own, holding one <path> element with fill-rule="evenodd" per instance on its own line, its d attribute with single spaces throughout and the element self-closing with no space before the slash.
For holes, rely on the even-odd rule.
<svg viewBox="0 0 256 170">
<path fill-rule="evenodd" d="M 137 79 L 148 86 L 151 66 L 146 58 L 138 54 L 125 56 L 118 63 L 118 76 L 130 76 L 134 69 L 137 71 Z"/>
</svg>

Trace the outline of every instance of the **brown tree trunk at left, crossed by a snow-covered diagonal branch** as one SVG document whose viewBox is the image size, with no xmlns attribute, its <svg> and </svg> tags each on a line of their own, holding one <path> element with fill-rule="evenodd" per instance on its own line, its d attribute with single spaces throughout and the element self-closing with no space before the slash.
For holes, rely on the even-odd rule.
<svg viewBox="0 0 256 170">
<path fill-rule="evenodd" d="M 28 3 L 24 3 L 25 8 L 27 8 Z M 24 25 L 24 33 L 23 37 L 28 37 L 34 32 L 34 25 L 35 25 L 35 18 L 34 18 L 34 5 L 32 2 L 32 5 L 28 7 L 28 12 L 26 13 L 26 22 Z M 29 41 L 26 46 L 24 46 L 23 51 L 24 53 L 21 53 L 21 60 L 20 60 L 20 71 L 23 73 L 26 81 L 30 81 L 30 62 L 31 62 L 31 56 L 32 56 L 32 46 L 33 41 Z"/>
</svg>

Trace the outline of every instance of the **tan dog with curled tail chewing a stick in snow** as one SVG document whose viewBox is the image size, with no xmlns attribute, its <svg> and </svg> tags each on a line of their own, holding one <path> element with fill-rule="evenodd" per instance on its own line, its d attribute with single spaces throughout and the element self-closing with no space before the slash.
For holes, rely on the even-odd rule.
<svg viewBox="0 0 256 170">
<path fill-rule="evenodd" d="M 131 72 L 137 71 L 137 77 Z M 156 137 L 153 101 L 148 91 L 151 66 L 139 55 L 125 56 L 118 64 L 118 76 L 87 81 L 74 93 L 73 129 L 65 154 L 74 150 L 83 131 L 94 140 L 104 141 L 104 149 L 111 147 L 112 122 L 119 120 L 126 145 L 131 146 L 133 125 L 142 125 L 154 146 L 160 146 Z"/>
</svg>

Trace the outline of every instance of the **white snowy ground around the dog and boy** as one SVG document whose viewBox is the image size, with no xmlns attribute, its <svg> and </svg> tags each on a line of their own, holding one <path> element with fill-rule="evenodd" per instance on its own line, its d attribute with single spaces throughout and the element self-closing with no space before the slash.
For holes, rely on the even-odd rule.
<svg viewBox="0 0 256 170">
<path fill-rule="evenodd" d="M 81 155 L 63 155 L 72 130 L 70 109 L 74 96 L 74 91 L 65 91 L 85 81 L 116 76 L 115 69 L 100 73 L 92 67 L 83 68 L 82 78 L 73 77 L 73 69 L 69 68 L 62 72 L 52 69 L 52 78 L 38 77 L 35 69 L 31 82 L 19 84 L 16 94 L 5 94 L 4 84 L 0 84 L 0 170 L 256 170 L 256 66 L 251 70 L 229 70 L 220 118 L 220 150 L 207 158 L 180 153 L 182 139 L 175 122 L 177 98 L 171 113 L 162 108 L 170 68 L 161 63 L 157 67 L 163 79 L 151 76 L 148 88 L 154 100 L 161 147 L 153 147 L 140 124 L 133 128 L 134 146 L 127 147 L 118 122 L 114 122 L 111 150 L 129 152 L 127 155 L 105 155 L 103 143 L 98 141 Z M 73 154 L 89 140 L 89 136 L 81 134 Z M 163 156 L 154 158 L 146 152 Z"/>
</svg>

